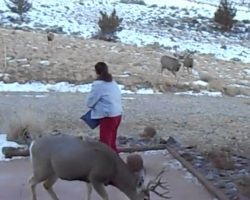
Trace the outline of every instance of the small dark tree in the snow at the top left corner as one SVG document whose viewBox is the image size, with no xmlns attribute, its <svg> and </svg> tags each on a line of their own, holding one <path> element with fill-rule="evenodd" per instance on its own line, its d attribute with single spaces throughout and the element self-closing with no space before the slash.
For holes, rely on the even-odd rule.
<svg viewBox="0 0 250 200">
<path fill-rule="evenodd" d="M 5 3 L 11 12 L 17 13 L 20 16 L 21 21 L 23 21 L 23 14 L 28 12 L 32 7 L 29 0 L 5 0 Z"/>
</svg>

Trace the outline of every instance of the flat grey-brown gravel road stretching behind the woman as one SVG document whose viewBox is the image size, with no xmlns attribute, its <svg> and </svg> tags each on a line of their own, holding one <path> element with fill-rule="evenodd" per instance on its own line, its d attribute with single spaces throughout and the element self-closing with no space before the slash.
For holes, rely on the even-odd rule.
<svg viewBox="0 0 250 200">
<path fill-rule="evenodd" d="M 68 134 L 98 136 L 98 129 L 91 130 L 79 119 L 87 111 L 86 95 L 0 93 L 1 132 L 8 133 L 18 116 L 18 120 L 28 120 L 28 124 L 33 123 L 44 133 L 57 129 Z M 228 147 L 249 156 L 250 99 L 124 94 L 122 102 L 119 135 L 138 137 L 146 126 L 153 126 L 159 136 L 173 136 L 201 150 Z M 31 116 L 27 118 L 29 112 Z"/>
</svg>

